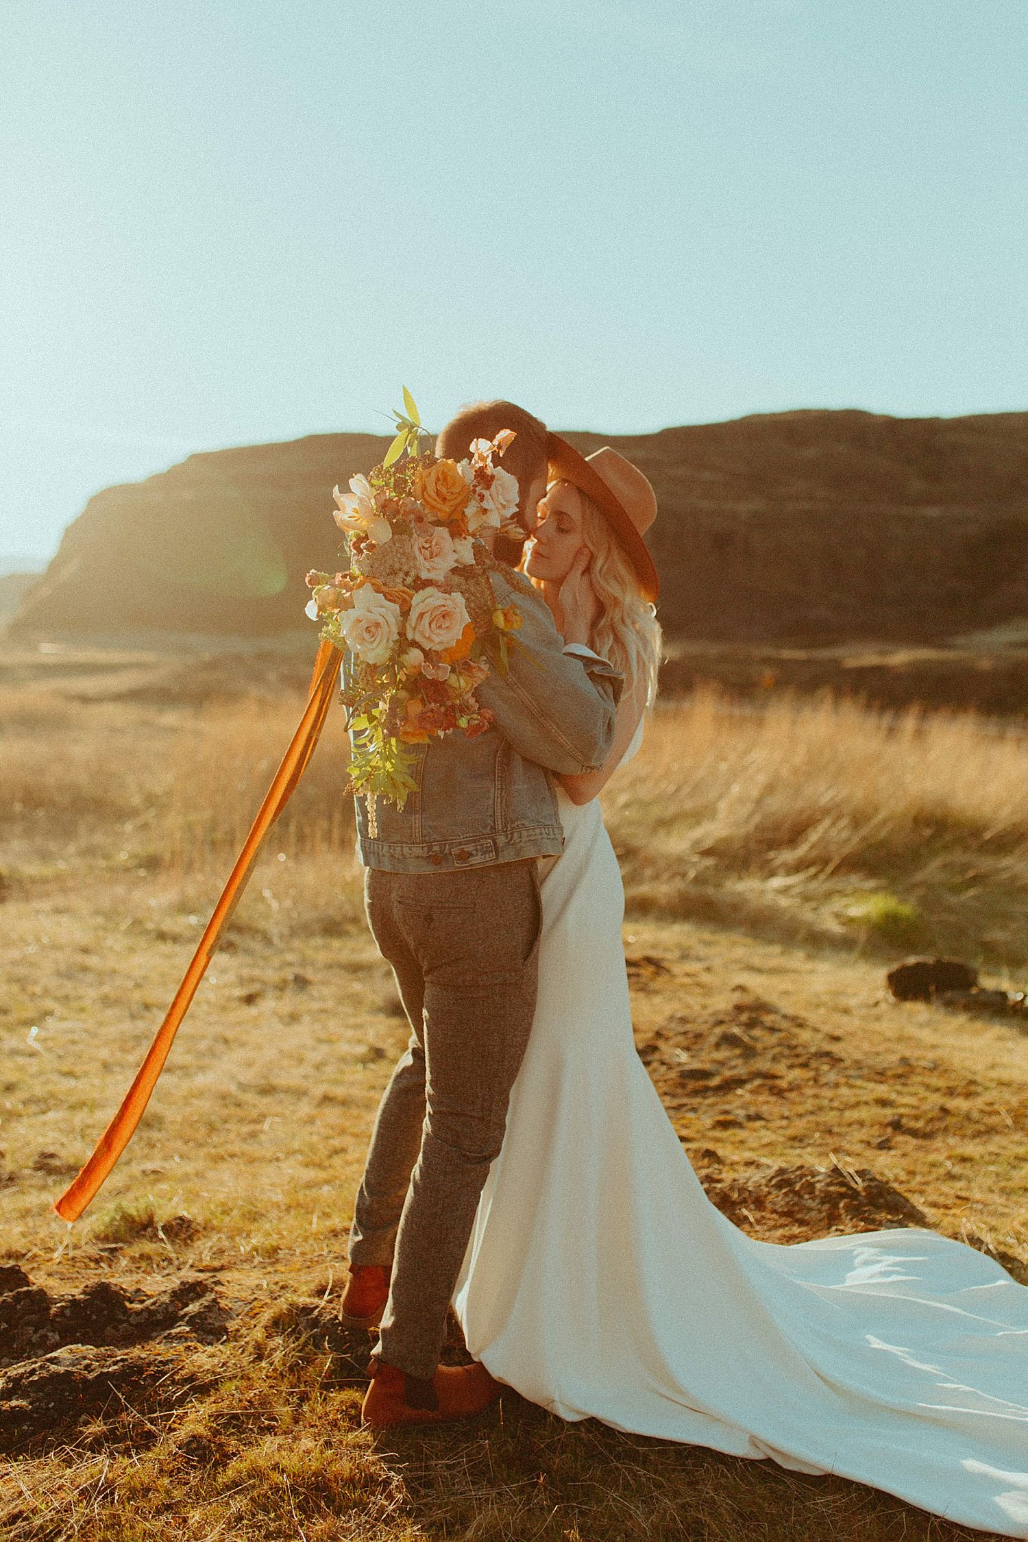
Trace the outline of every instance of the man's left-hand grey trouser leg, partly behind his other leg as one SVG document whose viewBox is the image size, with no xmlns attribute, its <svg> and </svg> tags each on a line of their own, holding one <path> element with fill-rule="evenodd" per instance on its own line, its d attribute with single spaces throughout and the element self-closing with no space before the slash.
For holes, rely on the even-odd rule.
<svg viewBox="0 0 1028 1542">
<path fill-rule="evenodd" d="M 388 876 L 385 888 L 388 888 Z M 425 1121 L 425 1052 L 422 1041 L 422 1008 L 425 987 L 421 965 L 401 936 L 391 905 L 373 894 L 375 879 L 367 873 L 367 911 L 371 934 L 382 956 L 393 965 L 396 987 L 410 1021 L 410 1042 L 396 1062 L 375 1116 L 371 1143 L 364 1163 L 350 1227 L 350 1263 L 393 1263 L 396 1227 L 407 1198 L 407 1187 Z"/>
</svg>

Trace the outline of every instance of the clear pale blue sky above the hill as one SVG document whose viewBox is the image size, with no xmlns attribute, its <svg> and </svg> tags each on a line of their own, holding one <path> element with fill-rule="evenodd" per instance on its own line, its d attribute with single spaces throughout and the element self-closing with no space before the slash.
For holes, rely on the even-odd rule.
<svg viewBox="0 0 1028 1542">
<path fill-rule="evenodd" d="M 1028 407 L 1028 0 L 6 0 L 0 561 L 196 449 Z"/>
</svg>

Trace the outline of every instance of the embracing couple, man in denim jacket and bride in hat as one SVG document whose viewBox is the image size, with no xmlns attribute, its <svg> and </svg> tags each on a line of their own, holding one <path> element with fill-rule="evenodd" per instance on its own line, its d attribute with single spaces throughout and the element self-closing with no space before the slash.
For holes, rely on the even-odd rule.
<svg viewBox="0 0 1028 1542">
<path fill-rule="evenodd" d="M 1028 1289 L 928 1231 L 740 1232 L 635 1053 L 598 793 L 653 699 L 657 500 L 624 456 L 584 458 L 512 402 L 461 412 L 438 453 L 502 430 L 529 540 L 487 555 L 521 615 L 509 672 L 478 688 L 492 726 L 430 739 L 375 830 L 358 800 L 412 1029 L 350 1237 L 344 1320 L 381 1325 L 364 1419 L 475 1414 L 507 1385 L 1028 1537 Z M 470 1366 L 439 1365 L 450 1305 Z"/>
</svg>

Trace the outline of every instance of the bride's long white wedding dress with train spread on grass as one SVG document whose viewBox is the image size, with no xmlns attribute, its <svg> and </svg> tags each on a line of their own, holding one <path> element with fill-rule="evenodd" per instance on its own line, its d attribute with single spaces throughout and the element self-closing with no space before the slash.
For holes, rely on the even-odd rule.
<svg viewBox="0 0 1028 1542">
<path fill-rule="evenodd" d="M 1028 1537 L 1028 1289 L 934 1232 L 783 1247 L 711 1204 L 635 1053 L 600 803 L 559 806 L 532 1039 L 455 1295 L 470 1352 L 563 1419 Z"/>
</svg>

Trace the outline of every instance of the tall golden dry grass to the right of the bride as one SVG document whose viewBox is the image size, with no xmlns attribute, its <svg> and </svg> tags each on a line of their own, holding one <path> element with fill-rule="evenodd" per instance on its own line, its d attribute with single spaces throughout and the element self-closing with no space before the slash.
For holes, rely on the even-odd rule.
<svg viewBox="0 0 1028 1542">
<path fill-rule="evenodd" d="M 629 908 L 1028 961 L 1028 736 L 715 692 L 658 709 L 612 785 Z"/>
</svg>

